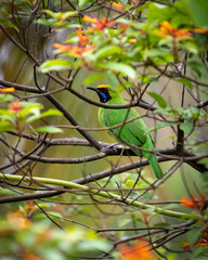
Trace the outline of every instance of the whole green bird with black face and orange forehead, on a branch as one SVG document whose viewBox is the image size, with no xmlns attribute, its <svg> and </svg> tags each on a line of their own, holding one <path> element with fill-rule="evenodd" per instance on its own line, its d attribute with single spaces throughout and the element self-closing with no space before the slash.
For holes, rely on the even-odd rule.
<svg viewBox="0 0 208 260">
<path fill-rule="evenodd" d="M 119 92 L 113 89 L 109 84 L 87 87 L 87 89 L 95 91 L 101 103 L 110 105 L 127 104 Z M 131 107 L 116 109 L 100 107 L 99 121 L 102 127 L 109 128 L 107 130 L 109 135 L 112 135 L 117 142 L 129 145 L 129 147 L 138 156 L 143 155 L 152 166 L 157 179 L 162 178 L 161 168 L 156 155 L 154 154 L 154 144 L 151 134 L 148 133 L 148 128 L 135 108 Z M 117 125 L 119 126 L 114 127 Z M 152 153 L 147 151 L 152 151 Z"/>
</svg>

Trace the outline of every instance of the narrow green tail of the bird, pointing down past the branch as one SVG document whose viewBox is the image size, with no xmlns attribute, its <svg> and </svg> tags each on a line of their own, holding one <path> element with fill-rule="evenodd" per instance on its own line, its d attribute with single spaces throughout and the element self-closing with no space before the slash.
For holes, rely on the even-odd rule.
<svg viewBox="0 0 208 260">
<path fill-rule="evenodd" d="M 154 148 L 152 140 L 151 140 L 151 136 L 150 136 L 150 140 L 147 140 L 147 142 L 142 145 L 142 148 L 145 148 L 145 150 L 153 150 Z M 150 165 L 153 168 L 153 171 L 154 171 L 155 176 L 158 179 L 161 179 L 164 174 L 162 174 L 161 168 L 159 166 L 159 162 L 158 162 L 158 160 L 156 158 L 156 155 L 155 154 L 151 154 L 151 153 L 145 152 L 145 151 L 143 151 L 142 154 L 148 160 Z"/>
</svg>

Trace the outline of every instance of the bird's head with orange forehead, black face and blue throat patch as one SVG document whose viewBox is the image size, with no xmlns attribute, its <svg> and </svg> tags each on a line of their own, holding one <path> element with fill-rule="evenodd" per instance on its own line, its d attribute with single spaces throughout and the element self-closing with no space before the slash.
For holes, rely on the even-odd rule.
<svg viewBox="0 0 208 260">
<path fill-rule="evenodd" d="M 98 93 L 101 103 L 106 103 L 112 100 L 118 93 L 113 90 L 109 84 L 100 84 L 98 87 L 88 87 L 87 89 L 93 90 Z"/>
</svg>

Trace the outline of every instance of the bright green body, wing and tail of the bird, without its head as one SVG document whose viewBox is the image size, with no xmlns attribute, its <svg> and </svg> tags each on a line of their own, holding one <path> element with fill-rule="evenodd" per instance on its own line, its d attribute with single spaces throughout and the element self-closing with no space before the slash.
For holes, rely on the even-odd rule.
<svg viewBox="0 0 208 260">
<path fill-rule="evenodd" d="M 154 151 L 154 145 L 151 140 L 151 135 L 147 134 L 147 127 L 142 118 L 138 118 L 139 114 L 135 109 L 107 109 L 100 108 L 99 119 L 103 127 L 114 127 L 119 123 L 123 123 L 119 127 L 112 128 L 108 130 L 109 134 L 118 142 L 129 144 L 131 150 L 139 156 L 141 151 L 135 146 L 140 146 L 144 150 Z M 131 120 L 136 118 L 134 120 Z M 128 121 L 131 120 L 131 121 Z M 134 147 L 132 147 L 134 146 Z M 155 154 L 142 151 L 144 157 L 147 158 L 152 166 L 155 176 L 160 179 L 162 178 L 162 171 L 157 161 Z"/>
</svg>

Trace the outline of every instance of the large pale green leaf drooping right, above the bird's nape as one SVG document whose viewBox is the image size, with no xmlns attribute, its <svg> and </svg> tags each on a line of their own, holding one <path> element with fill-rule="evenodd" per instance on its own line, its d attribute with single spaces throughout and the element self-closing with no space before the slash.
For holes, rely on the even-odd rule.
<svg viewBox="0 0 208 260">
<path fill-rule="evenodd" d="M 98 67 L 109 69 L 116 73 L 121 73 L 123 75 L 127 75 L 131 79 L 135 79 L 136 73 L 135 70 L 127 64 L 123 63 L 117 63 L 117 62 L 105 62 L 105 63 L 99 63 Z"/>
</svg>

